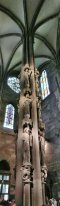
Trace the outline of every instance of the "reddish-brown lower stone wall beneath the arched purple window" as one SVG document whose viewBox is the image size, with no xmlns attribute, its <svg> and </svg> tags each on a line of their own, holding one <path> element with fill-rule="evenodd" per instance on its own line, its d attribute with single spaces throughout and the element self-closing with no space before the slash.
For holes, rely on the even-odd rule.
<svg viewBox="0 0 60 206">
<path fill-rule="evenodd" d="M 0 161 L 6 160 L 10 166 L 10 195 L 15 193 L 14 168 L 16 166 L 16 135 L 0 131 Z"/>
</svg>

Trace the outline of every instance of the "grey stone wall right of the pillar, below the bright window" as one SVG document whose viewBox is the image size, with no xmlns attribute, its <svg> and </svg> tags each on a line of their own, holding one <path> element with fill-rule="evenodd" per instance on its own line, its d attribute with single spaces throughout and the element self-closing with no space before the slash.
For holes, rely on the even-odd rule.
<svg viewBox="0 0 60 206">
<path fill-rule="evenodd" d="M 52 196 L 60 196 L 60 75 L 54 65 L 46 69 L 50 95 L 42 101 L 45 123 L 45 158 L 52 181 Z"/>
</svg>

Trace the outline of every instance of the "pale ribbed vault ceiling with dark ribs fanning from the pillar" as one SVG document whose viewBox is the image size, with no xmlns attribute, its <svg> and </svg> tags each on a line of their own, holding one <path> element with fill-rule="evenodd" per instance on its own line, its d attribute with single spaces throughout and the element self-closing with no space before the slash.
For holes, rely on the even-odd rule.
<svg viewBox="0 0 60 206">
<path fill-rule="evenodd" d="M 0 0 L 0 85 L 23 63 L 24 41 L 33 39 L 34 62 L 42 69 L 59 61 L 60 0 Z M 26 54 L 25 54 L 26 55 Z M 3 86 L 4 87 L 4 86 Z"/>
</svg>

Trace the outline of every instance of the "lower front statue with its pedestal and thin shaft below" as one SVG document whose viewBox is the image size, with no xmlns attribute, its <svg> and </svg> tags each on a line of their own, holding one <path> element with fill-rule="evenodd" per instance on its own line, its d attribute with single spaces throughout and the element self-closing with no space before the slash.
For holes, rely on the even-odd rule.
<svg viewBox="0 0 60 206">
<path fill-rule="evenodd" d="M 23 186 L 24 186 L 24 206 L 30 206 L 30 184 L 31 184 L 31 162 L 30 162 L 30 138 L 32 123 L 29 115 L 23 119 Z"/>
</svg>

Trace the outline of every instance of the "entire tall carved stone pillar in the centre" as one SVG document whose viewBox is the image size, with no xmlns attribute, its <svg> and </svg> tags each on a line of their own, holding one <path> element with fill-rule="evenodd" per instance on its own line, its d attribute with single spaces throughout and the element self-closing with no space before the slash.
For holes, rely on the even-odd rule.
<svg viewBox="0 0 60 206">
<path fill-rule="evenodd" d="M 16 171 L 17 206 L 43 205 L 44 191 L 42 192 L 42 165 L 38 135 L 41 119 L 41 95 L 38 86 L 39 73 L 34 68 L 30 40 L 30 63 L 22 67 L 20 74 L 21 94 L 19 100 Z"/>
</svg>

